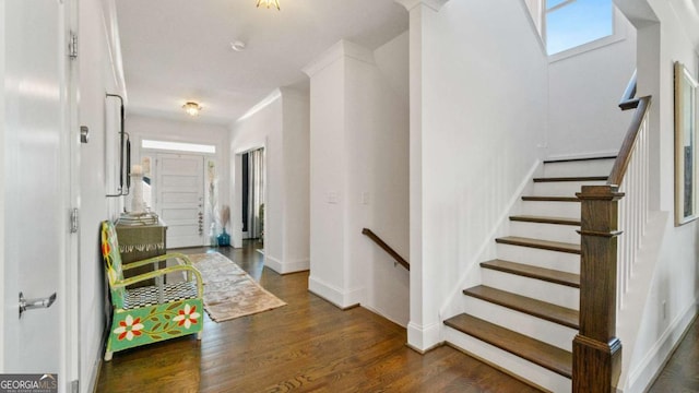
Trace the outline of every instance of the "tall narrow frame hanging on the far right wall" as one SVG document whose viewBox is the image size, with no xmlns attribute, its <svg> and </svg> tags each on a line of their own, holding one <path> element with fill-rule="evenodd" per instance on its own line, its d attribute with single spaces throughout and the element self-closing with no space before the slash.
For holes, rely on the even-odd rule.
<svg viewBox="0 0 699 393">
<path fill-rule="evenodd" d="M 697 81 L 675 62 L 675 226 L 697 218 Z"/>
</svg>

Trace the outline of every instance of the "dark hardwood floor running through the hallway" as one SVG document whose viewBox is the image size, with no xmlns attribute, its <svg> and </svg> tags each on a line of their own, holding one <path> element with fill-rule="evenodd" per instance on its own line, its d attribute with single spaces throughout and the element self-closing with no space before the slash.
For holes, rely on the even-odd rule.
<svg viewBox="0 0 699 393">
<path fill-rule="evenodd" d="M 308 291 L 308 273 L 264 269 L 257 247 L 214 251 L 287 306 L 223 323 L 206 317 L 201 342 L 189 336 L 115 353 L 103 362 L 97 392 L 538 392 L 449 346 L 415 353 L 405 329 L 362 307 L 337 309 Z M 651 392 L 699 391 L 696 322 L 692 332 L 677 350 L 688 354 L 687 365 L 661 376 Z"/>
</svg>

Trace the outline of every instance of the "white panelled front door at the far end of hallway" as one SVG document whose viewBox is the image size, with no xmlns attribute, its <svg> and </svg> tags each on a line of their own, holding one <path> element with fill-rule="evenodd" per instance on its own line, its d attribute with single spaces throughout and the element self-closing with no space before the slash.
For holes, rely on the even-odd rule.
<svg viewBox="0 0 699 393">
<path fill-rule="evenodd" d="M 167 247 L 204 243 L 204 157 L 158 154 L 155 209 L 167 225 Z"/>
</svg>

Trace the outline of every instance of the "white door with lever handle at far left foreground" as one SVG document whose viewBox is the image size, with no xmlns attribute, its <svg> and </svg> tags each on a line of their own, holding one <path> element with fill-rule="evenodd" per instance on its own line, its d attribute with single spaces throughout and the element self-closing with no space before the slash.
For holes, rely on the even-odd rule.
<svg viewBox="0 0 699 393">
<path fill-rule="evenodd" d="M 1 373 L 57 373 L 67 391 L 78 365 L 73 274 L 76 237 L 69 231 L 71 199 L 68 56 L 71 0 L 0 4 L 0 317 Z M 74 152 L 76 153 L 76 152 Z M 20 293 L 50 307 L 20 315 Z M 46 300 L 44 306 L 48 306 Z M 37 303 L 38 305 L 38 303 Z"/>
</svg>

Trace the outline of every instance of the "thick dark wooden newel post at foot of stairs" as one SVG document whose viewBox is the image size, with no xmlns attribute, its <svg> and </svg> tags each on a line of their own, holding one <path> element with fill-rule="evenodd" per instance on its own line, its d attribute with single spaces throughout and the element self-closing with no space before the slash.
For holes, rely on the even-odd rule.
<svg viewBox="0 0 699 393">
<path fill-rule="evenodd" d="M 616 186 L 584 186 L 581 202 L 580 333 L 572 345 L 572 391 L 614 392 L 621 371 L 616 337 Z"/>
</svg>

